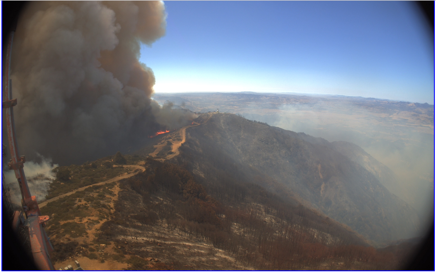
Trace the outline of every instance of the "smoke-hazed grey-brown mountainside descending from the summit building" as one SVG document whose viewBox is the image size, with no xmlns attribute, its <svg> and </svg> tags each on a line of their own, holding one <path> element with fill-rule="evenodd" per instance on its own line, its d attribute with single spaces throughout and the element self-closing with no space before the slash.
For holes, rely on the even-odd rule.
<svg viewBox="0 0 436 273">
<path fill-rule="evenodd" d="M 272 188 L 284 187 L 375 244 L 410 238 L 419 231 L 413 208 L 327 140 L 233 114 L 209 113 L 196 121 L 202 124 L 186 130 L 181 150 L 203 175 L 208 160 L 264 174 L 272 178 Z"/>
</svg>

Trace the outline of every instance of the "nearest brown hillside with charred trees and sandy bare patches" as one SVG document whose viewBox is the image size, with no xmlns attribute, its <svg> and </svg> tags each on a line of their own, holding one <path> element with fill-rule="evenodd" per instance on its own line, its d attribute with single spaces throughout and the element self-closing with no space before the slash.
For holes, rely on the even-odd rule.
<svg viewBox="0 0 436 273">
<path fill-rule="evenodd" d="M 255 168 L 219 153 L 195 162 L 182 150 L 166 160 L 126 156 L 145 171 L 71 195 L 62 193 L 129 170 L 106 164 L 116 156 L 59 167 L 72 176 L 54 183 L 49 196 L 59 199 L 41 208 L 56 268 L 78 260 L 85 270 L 395 270 L 414 251 L 375 249 Z"/>
</svg>

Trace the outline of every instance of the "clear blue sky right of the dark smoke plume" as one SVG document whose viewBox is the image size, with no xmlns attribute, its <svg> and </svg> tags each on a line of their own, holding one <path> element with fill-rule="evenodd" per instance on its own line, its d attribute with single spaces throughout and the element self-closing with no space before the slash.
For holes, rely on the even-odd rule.
<svg viewBox="0 0 436 273">
<path fill-rule="evenodd" d="M 156 92 L 297 92 L 434 101 L 434 45 L 409 2 L 165 1 L 140 61 Z"/>
</svg>

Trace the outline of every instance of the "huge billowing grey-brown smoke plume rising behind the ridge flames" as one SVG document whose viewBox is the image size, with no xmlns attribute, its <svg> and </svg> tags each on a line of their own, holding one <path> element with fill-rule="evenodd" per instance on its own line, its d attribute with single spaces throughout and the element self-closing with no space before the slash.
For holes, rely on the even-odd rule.
<svg viewBox="0 0 436 273">
<path fill-rule="evenodd" d="M 152 103 L 153 71 L 138 61 L 165 27 L 160 1 L 32 2 L 12 52 L 20 153 L 79 164 L 189 123 Z"/>
</svg>

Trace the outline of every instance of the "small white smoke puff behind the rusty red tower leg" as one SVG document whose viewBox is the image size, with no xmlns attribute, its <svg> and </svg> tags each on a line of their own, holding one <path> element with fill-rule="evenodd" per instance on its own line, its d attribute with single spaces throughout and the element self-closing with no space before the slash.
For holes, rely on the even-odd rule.
<svg viewBox="0 0 436 273">
<path fill-rule="evenodd" d="M 28 161 L 24 163 L 24 173 L 26 174 L 27 184 L 32 195 L 36 200 L 41 202 L 45 200 L 47 190 L 51 182 L 56 179 L 53 169 L 58 164 L 53 164 L 50 159 L 39 156 L 40 163 Z M 3 171 L 5 178 L 5 188 L 9 191 L 11 201 L 15 204 L 21 204 L 21 192 L 18 186 L 17 178 L 13 170 Z"/>
</svg>

